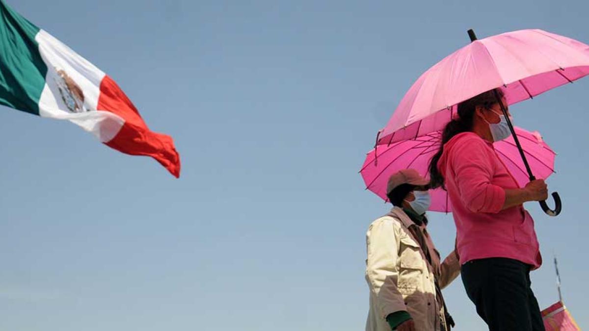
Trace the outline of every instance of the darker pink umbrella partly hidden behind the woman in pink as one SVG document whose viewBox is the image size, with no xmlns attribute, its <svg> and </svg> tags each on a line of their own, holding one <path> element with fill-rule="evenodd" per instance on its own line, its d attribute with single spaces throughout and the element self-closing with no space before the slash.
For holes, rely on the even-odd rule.
<svg viewBox="0 0 589 331">
<path fill-rule="evenodd" d="M 554 173 L 554 158 L 556 154 L 544 141 L 538 132 L 526 131 L 515 127 L 524 153 L 530 160 L 532 171 L 539 178 L 546 179 Z M 441 142 L 441 132 L 435 131 L 414 140 L 404 140 L 392 143 L 388 147 L 373 149 L 366 155 L 366 160 L 360 170 L 366 189 L 388 201 L 386 197 L 386 182 L 389 177 L 401 169 L 413 168 L 423 177 L 429 178 L 428 166 L 432 156 L 438 151 Z M 528 183 L 528 174 L 519 155 L 514 138 L 509 137 L 494 144 L 495 151 L 509 172 L 515 177 L 520 187 Z M 378 153 L 378 154 L 377 154 Z M 429 210 L 452 211 L 448 193 L 442 188 L 431 191 L 432 204 Z"/>
</svg>

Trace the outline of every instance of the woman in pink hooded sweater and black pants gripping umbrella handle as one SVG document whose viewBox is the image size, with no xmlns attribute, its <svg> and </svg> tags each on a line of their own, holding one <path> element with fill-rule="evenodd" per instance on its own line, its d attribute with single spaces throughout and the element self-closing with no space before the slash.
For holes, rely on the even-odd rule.
<svg viewBox="0 0 589 331">
<path fill-rule="evenodd" d="M 489 330 L 544 330 L 530 287 L 542 258 L 522 204 L 545 200 L 548 189 L 543 180 L 519 188 L 492 144 L 509 135 L 494 92 L 472 97 L 446 125 L 429 171 L 432 187 L 448 191 L 462 283 Z"/>
</svg>

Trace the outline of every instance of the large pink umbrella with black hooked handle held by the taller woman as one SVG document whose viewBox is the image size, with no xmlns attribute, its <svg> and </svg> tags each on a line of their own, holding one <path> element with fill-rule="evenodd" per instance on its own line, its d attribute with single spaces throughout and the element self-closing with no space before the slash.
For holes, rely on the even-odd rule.
<svg viewBox="0 0 589 331">
<path fill-rule="evenodd" d="M 379 131 L 377 145 L 391 145 L 441 130 L 455 114 L 456 104 L 482 92 L 502 88 L 507 103 L 514 104 L 589 74 L 589 46 L 574 39 L 539 29 L 481 40 L 470 30 L 469 36 L 471 44 L 442 59 L 418 78 L 389 123 Z M 502 111 L 507 115 L 507 110 Z M 514 133 L 511 121 L 508 124 Z M 517 138 L 515 144 L 519 145 Z M 524 152 L 518 150 L 528 177 L 535 179 Z M 552 197 L 555 210 L 548 208 L 545 201 L 540 204 L 548 215 L 556 216 L 561 201 L 557 193 L 552 193 Z"/>
</svg>

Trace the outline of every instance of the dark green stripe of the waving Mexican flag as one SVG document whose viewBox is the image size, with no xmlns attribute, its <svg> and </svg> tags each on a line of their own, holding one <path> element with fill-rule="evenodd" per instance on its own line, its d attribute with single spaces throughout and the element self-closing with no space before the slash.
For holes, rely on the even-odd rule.
<svg viewBox="0 0 589 331">
<path fill-rule="evenodd" d="M 34 24 L 0 0 L 0 104 L 39 115 L 47 65 Z"/>
</svg>

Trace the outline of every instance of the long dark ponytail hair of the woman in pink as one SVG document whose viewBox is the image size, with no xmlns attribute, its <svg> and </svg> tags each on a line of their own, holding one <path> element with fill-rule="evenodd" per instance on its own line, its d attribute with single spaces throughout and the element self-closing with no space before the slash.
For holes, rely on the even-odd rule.
<svg viewBox="0 0 589 331">
<path fill-rule="evenodd" d="M 495 89 L 495 91 L 499 94 L 499 98 L 504 97 L 503 91 L 500 88 Z M 446 127 L 442 132 L 442 144 L 440 149 L 438 150 L 438 153 L 432 157 L 432 160 L 429 163 L 429 177 L 431 178 L 430 185 L 432 188 L 442 187 L 446 189 L 444 186 L 444 176 L 442 176 L 438 169 L 438 161 L 440 157 L 442 157 L 442 153 L 444 153 L 444 145 L 455 135 L 472 131 L 472 121 L 474 120 L 475 109 L 477 106 L 490 109 L 492 105 L 497 103 L 497 97 L 495 96 L 494 90 L 489 90 L 458 104 L 458 117 L 453 118 L 452 121 L 446 124 Z"/>
</svg>

